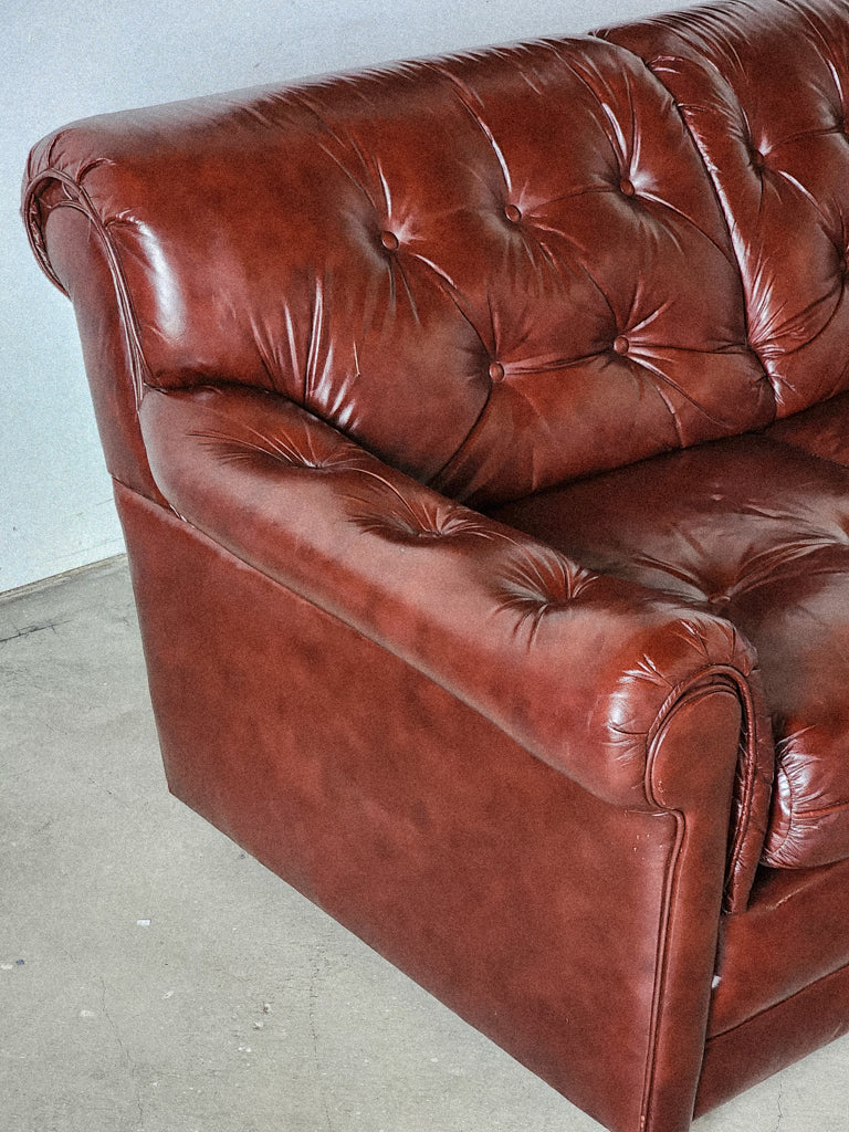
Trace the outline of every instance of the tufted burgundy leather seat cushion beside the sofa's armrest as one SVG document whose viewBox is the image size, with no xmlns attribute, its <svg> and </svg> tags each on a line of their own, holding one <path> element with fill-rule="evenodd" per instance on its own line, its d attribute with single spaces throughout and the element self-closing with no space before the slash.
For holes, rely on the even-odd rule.
<svg viewBox="0 0 849 1132">
<path fill-rule="evenodd" d="M 849 470 L 749 436 L 494 515 L 593 569 L 711 609 L 748 637 L 777 755 L 764 860 L 849 857 Z"/>
</svg>

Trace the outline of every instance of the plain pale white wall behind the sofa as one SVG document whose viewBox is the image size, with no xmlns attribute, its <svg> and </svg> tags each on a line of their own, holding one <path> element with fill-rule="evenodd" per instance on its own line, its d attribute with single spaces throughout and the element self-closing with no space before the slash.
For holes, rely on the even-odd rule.
<svg viewBox="0 0 849 1132">
<path fill-rule="evenodd" d="M 391 59 L 577 34 L 675 0 L 0 0 L 0 591 L 122 549 L 68 301 L 18 216 L 75 118 Z M 6 58 L 3 58 L 6 57 Z"/>
</svg>

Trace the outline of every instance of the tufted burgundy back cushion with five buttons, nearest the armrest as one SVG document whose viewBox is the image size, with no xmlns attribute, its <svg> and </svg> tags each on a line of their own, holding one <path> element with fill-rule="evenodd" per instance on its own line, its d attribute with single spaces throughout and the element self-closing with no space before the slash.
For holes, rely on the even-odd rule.
<svg viewBox="0 0 849 1132">
<path fill-rule="evenodd" d="M 148 383 L 278 391 L 458 498 L 774 414 L 701 157 L 611 44 L 109 115 L 36 165 L 104 225 Z"/>
</svg>

